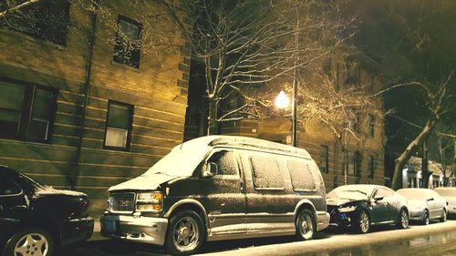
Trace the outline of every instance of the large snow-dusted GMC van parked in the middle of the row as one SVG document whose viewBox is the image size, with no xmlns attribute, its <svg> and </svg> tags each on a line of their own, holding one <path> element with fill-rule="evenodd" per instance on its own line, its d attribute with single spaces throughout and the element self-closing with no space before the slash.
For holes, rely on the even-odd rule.
<svg viewBox="0 0 456 256">
<path fill-rule="evenodd" d="M 109 189 L 101 234 L 166 245 L 172 254 L 204 241 L 295 234 L 328 226 L 326 192 L 305 149 L 257 138 L 187 141 L 136 179 Z"/>
</svg>

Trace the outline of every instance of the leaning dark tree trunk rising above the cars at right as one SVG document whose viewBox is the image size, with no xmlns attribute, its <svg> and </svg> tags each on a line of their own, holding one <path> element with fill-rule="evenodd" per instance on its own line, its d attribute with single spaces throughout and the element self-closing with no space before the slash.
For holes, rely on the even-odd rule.
<svg viewBox="0 0 456 256">
<path fill-rule="evenodd" d="M 399 158 L 395 160 L 394 176 L 391 184 L 392 189 L 396 190 L 402 188 L 402 169 L 404 169 L 404 166 L 409 161 L 411 155 L 416 152 L 417 148 L 419 148 L 424 140 L 428 138 L 436 124 L 436 119 L 432 118 L 428 120 L 420 134 L 409 143 L 409 146 L 407 146 L 402 154 L 400 154 Z"/>
</svg>

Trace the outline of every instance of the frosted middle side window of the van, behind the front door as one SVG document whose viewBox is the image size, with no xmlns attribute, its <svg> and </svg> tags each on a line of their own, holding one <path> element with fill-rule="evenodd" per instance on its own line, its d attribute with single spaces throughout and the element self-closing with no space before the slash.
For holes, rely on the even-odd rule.
<svg viewBox="0 0 456 256">
<path fill-rule="evenodd" d="M 250 158 L 255 189 L 284 189 L 285 181 L 282 170 L 275 159 Z"/>
</svg>

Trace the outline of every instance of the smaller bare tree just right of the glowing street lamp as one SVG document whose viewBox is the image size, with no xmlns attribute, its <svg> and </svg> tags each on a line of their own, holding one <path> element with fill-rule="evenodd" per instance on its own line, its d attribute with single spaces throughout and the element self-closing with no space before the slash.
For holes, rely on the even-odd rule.
<svg viewBox="0 0 456 256">
<path fill-rule="evenodd" d="M 368 115 L 383 118 L 380 98 L 366 85 L 351 83 L 349 77 L 341 83 L 336 74 L 325 74 L 318 67 L 306 73 L 299 76 L 306 79 L 299 81 L 296 94 L 300 121 L 329 128 L 344 157 L 350 145 L 362 147 L 368 131 L 361 127 L 368 125 Z M 347 184 L 347 163 L 343 172 Z"/>
</svg>

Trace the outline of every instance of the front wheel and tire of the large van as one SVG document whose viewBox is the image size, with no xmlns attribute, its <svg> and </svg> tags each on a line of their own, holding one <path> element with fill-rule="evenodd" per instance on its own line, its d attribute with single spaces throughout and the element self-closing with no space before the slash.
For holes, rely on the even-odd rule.
<svg viewBox="0 0 456 256">
<path fill-rule="evenodd" d="M 166 249 L 172 255 L 198 251 L 204 239 L 204 225 L 198 213 L 183 210 L 172 216 L 166 233 Z"/>
</svg>

